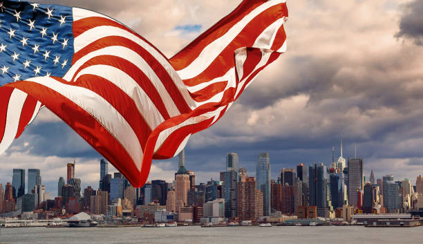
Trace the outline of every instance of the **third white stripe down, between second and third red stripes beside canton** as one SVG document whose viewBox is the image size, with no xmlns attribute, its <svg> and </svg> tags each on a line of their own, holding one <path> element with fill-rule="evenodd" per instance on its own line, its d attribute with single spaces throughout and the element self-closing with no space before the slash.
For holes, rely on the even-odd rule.
<svg viewBox="0 0 423 244">
<path fill-rule="evenodd" d="M 173 102 L 171 96 L 167 92 L 167 89 L 164 87 L 162 81 L 153 71 L 151 66 L 149 66 L 149 64 L 140 55 L 138 55 L 138 53 L 135 53 L 133 50 L 129 48 L 125 48 L 123 46 L 108 46 L 106 48 L 102 48 L 99 50 L 95 50 L 94 52 L 88 53 L 87 55 L 79 59 L 69 69 L 68 73 L 66 73 L 65 75 L 66 80 L 72 79 L 73 75 L 75 75 L 75 72 L 77 72 L 77 70 L 81 68 L 81 66 L 86 64 L 86 62 L 88 62 L 90 59 L 92 59 L 93 57 L 101 56 L 101 55 L 112 55 L 116 57 L 122 57 L 123 59 L 126 59 L 127 61 L 131 62 L 132 64 L 140 68 L 142 73 L 147 75 L 147 77 L 151 81 L 151 84 L 153 84 L 153 86 L 156 88 L 156 91 L 158 91 L 162 99 L 162 102 L 164 103 L 164 106 L 166 107 L 167 113 L 169 113 L 171 117 L 180 115 L 178 107 L 176 106 L 175 102 Z M 102 72 L 107 73 L 108 70 L 105 69 Z M 79 76 L 80 74 L 77 74 L 77 77 Z M 75 78 L 75 80 L 77 79 L 77 77 Z M 112 81 L 111 79 L 109 80 Z M 147 81 L 142 81 L 142 82 L 147 82 Z"/>
</svg>

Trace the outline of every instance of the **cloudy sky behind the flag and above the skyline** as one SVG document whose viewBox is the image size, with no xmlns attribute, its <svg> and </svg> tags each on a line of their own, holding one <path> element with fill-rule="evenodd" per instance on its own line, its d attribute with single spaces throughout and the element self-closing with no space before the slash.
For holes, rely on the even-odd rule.
<svg viewBox="0 0 423 244">
<path fill-rule="evenodd" d="M 118 19 L 172 57 L 241 0 L 46 0 Z M 423 174 L 423 1 L 291 0 L 288 50 L 268 66 L 214 126 L 191 136 L 186 167 L 196 182 L 218 179 L 227 152 L 255 176 L 270 153 L 272 178 L 283 167 L 364 159 L 367 178 Z M 0 183 L 13 168 L 39 168 L 53 196 L 66 163 L 77 162 L 82 187 L 98 187 L 102 156 L 44 109 L 0 155 Z M 153 161 L 150 180 L 171 182 L 176 158 Z M 109 165 L 109 171 L 115 171 Z"/>
</svg>

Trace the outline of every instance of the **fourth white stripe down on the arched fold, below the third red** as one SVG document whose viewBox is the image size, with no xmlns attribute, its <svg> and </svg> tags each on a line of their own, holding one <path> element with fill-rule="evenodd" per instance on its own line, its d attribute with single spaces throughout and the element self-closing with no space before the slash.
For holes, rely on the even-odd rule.
<svg viewBox="0 0 423 244">
<path fill-rule="evenodd" d="M 133 102 L 140 111 L 142 117 L 146 120 L 151 131 L 156 126 L 164 122 L 164 118 L 150 100 L 150 97 L 142 90 L 138 83 L 132 79 L 131 76 L 127 75 L 119 68 L 107 65 L 94 65 L 84 68 L 78 73 L 75 81 L 82 75 L 97 75 L 109 80 L 109 82 L 118 86 L 126 95 L 132 98 Z"/>
</svg>

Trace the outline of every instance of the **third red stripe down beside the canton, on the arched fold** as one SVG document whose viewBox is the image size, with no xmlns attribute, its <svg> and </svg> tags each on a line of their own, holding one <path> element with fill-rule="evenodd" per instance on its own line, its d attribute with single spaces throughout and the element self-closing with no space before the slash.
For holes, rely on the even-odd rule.
<svg viewBox="0 0 423 244">
<path fill-rule="evenodd" d="M 156 90 L 156 87 L 153 86 L 150 79 L 145 75 L 140 68 L 135 66 L 133 63 L 129 62 L 122 57 L 111 56 L 111 55 L 102 55 L 93 57 L 92 59 L 88 60 L 84 65 L 82 65 L 77 73 L 82 71 L 84 68 L 89 66 L 97 65 L 97 64 L 104 64 L 107 66 L 113 66 L 115 68 L 119 68 L 120 70 L 124 71 L 127 75 L 129 75 L 132 79 L 137 82 L 137 84 L 144 90 L 144 92 L 150 97 L 151 101 L 153 102 L 154 106 L 158 109 L 160 114 L 163 116 L 164 120 L 170 118 L 169 113 L 167 113 L 166 107 L 160 97 L 160 94 Z M 77 74 L 75 73 L 75 74 Z M 79 79 L 78 79 L 79 80 Z"/>
</svg>

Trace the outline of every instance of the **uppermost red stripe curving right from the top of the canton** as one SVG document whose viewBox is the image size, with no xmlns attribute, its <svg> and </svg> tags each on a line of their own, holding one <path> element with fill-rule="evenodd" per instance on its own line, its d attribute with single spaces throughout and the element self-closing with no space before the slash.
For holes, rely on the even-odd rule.
<svg viewBox="0 0 423 244">
<path fill-rule="evenodd" d="M 73 22 L 73 36 L 74 36 L 74 38 L 76 38 L 79 35 L 81 35 L 82 33 L 86 32 L 87 30 L 90 30 L 92 28 L 99 27 L 99 26 L 114 26 L 114 27 L 121 28 L 122 30 L 126 30 L 128 32 L 131 32 L 133 35 L 142 39 L 142 41 L 145 41 L 145 43 L 147 43 L 149 46 L 154 48 L 154 50 L 156 50 L 160 55 L 162 55 L 164 57 L 164 59 L 167 59 L 167 57 L 164 56 L 163 53 L 160 52 L 160 50 L 158 50 L 155 46 L 153 46 L 149 41 L 147 41 L 146 39 L 144 39 L 143 37 L 138 35 L 137 32 L 131 30 L 130 28 L 128 28 L 128 27 L 126 27 L 126 26 L 124 26 L 120 23 L 118 23 L 115 20 L 111 20 L 111 19 L 108 19 L 108 18 L 105 18 L 105 17 L 88 17 L 88 18 L 79 19 L 77 21 L 74 21 Z"/>
</svg>

